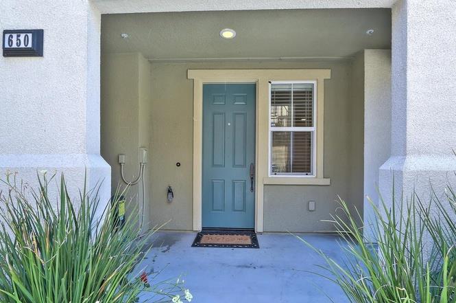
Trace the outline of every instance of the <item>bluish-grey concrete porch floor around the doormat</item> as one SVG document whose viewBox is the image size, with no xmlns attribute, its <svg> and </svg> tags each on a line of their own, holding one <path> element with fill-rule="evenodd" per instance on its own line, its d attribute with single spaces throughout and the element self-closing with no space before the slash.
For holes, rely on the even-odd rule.
<svg viewBox="0 0 456 303">
<path fill-rule="evenodd" d="M 341 289 L 312 272 L 322 272 L 320 256 L 290 234 L 260 234 L 260 249 L 191 247 L 193 232 L 157 232 L 145 263 L 162 271 L 158 280 L 182 275 L 196 303 L 334 302 L 348 300 Z M 335 260 L 341 260 L 337 236 L 298 234 Z M 326 295 L 325 295 L 326 294 Z M 141 296 L 140 302 L 150 298 Z"/>
</svg>

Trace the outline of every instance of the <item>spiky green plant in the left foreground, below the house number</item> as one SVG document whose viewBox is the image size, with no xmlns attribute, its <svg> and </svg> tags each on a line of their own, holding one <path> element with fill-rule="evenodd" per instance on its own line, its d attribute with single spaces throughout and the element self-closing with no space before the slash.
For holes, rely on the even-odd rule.
<svg viewBox="0 0 456 303">
<path fill-rule="evenodd" d="M 36 191 L 16 184 L 12 175 L 3 181 L 0 302 L 137 302 L 141 291 L 155 292 L 162 301 L 182 290 L 176 282 L 151 286 L 139 278 L 142 269 L 136 267 L 155 229 L 141 236 L 134 219 L 115 228 L 114 209 L 100 211 L 99 186 L 87 190 L 84 184 L 73 201 L 63 176 L 56 185 L 60 194 L 51 201 L 52 179 L 38 177 Z"/>
</svg>

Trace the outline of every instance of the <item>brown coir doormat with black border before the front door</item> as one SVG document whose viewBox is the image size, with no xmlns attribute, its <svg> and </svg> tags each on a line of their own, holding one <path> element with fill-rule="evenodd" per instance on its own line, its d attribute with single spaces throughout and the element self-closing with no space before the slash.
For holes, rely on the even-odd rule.
<svg viewBox="0 0 456 303">
<path fill-rule="evenodd" d="M 233 229 L 203 229 L 191 247 L 260 248 L 253 230 Z"/>
</svg>

